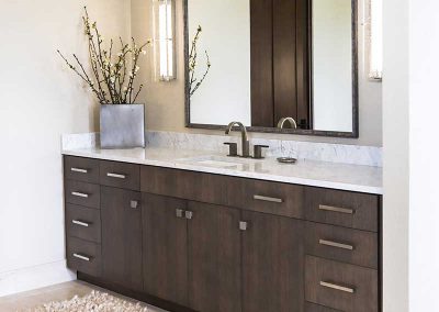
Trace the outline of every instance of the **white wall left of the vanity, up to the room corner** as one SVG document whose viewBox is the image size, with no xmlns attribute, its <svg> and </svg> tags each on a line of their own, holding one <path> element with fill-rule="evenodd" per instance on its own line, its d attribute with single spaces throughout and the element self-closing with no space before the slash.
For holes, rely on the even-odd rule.
<svg viewBox="0 0 439 312">
<path fill-rule="evenodd" d="M 98 115 L 56 49 L 87 60 L 83 4 L 106 38 L 128 37 L 130 1 L 1 3 L 0 296 L 71 278 L 64 266 L 60 135 L 97 130 Z"/>
</svg>

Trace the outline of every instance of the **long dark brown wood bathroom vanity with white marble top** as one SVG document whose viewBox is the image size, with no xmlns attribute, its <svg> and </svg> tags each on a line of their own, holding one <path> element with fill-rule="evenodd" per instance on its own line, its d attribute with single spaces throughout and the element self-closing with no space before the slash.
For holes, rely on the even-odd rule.
<svg viewBox="0 0 439 312">
<path fill-rule="evenodd" d="M 81 280 L 170 311 L 381 311 L 380 188 L 330 180 L 373 167 L 320 164 L 329 178 L 307 180 L 270 159 L 64 154 Z"/>
</svg>

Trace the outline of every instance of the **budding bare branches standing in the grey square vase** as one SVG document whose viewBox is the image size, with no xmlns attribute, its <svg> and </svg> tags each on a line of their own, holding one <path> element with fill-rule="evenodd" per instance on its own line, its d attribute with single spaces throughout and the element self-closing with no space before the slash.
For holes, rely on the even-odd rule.
<svg viewBox="0 0 439 312">
<path fill-rule="evenodd" d="M 138 59 L 140 55 L 146 55 L 146 46 L 149 41 L 142 46 L 137 46 L 134 38 L 131 44 L 125 44 L 120 37 L 121 49 L 113 52 L 113 40 L 110 47 L 104 47 L 104 38 L 98 30 L 97 22 L 91 23 L 87 7 L 83 8 L 82 16 L 85 34 L 89 44 L 89 58 L 91 74 L 87 74 L 83 64 L 74 54 L 74 62 L 65 57 L 59 49 L 57 51 L 67 66 L 74 70 L 98 97 L 101 104 L 133 104 L 140 93 L 144 85 L 134 91 L 134 81 L 139 71 Z"/>
</svg>

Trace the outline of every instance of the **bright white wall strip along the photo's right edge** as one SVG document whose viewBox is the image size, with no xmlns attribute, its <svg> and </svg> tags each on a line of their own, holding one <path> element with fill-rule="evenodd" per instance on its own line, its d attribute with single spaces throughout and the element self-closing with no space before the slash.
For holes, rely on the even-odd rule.
<svg viewBox="0 0 439 312">
<path fill-rule="evenodd" d="M 409 307 L 439 311 L 439 2 L 409 0 Z"/>
</svg>

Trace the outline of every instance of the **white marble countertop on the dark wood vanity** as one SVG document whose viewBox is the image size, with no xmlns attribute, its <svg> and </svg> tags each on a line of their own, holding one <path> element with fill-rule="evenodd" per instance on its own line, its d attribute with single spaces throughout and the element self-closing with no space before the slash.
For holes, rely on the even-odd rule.
<svg viewBox="0 0 439 312">
<path fill-rule="evenodd" d="M 225 157 L 215 152 L 157 147 L 145 149 L 65 149 L 63 154 L 373 194 L 383 193 L 382 168 L 371 166 L 306 159 L 300 159 L 294 165 L 288 165 L 279 164 L 275 158 L 270 157 L 260 160 L 247 160 Z M 203 159 L 206 161 L 203 161 Z M 215 160 L 228 161 L 228 159 L 232 163 L 239 163 L 239 165 L 230 163 L 230 166 L 215 166 Z"/>
</svg>

